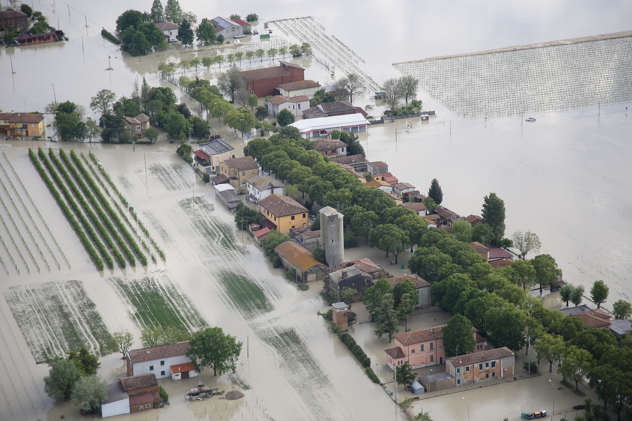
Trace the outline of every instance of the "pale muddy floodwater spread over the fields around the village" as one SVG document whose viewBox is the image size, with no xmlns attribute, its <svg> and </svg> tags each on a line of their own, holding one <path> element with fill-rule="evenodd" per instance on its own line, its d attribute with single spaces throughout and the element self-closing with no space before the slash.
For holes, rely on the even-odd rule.
<svg viewBox="0 0 632 421">
<path fill-rule="evenodd" d="M 198 1 L 181 4 L 199 18 L 229 15 L 237 8 L 234 4 L 226 8 Z M 97 90 L 108 88 L 117 95 L 129 95 L 137 78 L 145 76 L 150 85 L 170 86 L 191 110 L 198 110 L 197 103 L 158 76 L 157 66 L 169 54 L 169 59 L 178 60 L 187 57 L 185 54 L 199 53 L 174 49 L 138 59 L 99 35 L 100 27 L 113 31 L 114 20 L 123 10 L 149 9 L 149 3 L 70 1 L 67 6 L 61 0 L 56 5 L 36 0 L 34 6 L 49 17 L 51 25 L 59 19 L 59 27 L 70 41 L 0 50 L 0 74 L 5 82 L 0 109 L 42 110 L 55 97 L 87 107 Z M 309 31 L 301 32 L 300 21 L 271 25 L 275 37 L 278 35 L 272 40 L 283 43 L 285 38 L 312 37 L 305 40 L 312 41 L 315 57 L 329 57 L 334 67 L 325 68 L 315 57 L 302 57 L 297 62 L 307 68 L 306 78 L 321 84 L 344 74 L 346 61 L 348 69 L 358 69 L 367 80 L 379 84 L 399 75 L 392 62 L 619 32 L 629 30 L 632 21 L 625 2 L 608 8 L 593 8 L 590 2 L 546 8 L 518 8 L 503 2 L 485 7 L 466 2 L 441 6 L 365 2 L 361 7 L 355 2 L 324 2 L 320 6 L 318 11 L 299 4 L 288 10 L 283 3 L 267 4 L 264 11 L 255 3 L 238 7 L 259 13 L 260 25 L 267 20 L 313 14 L 315 23 L 310 23 Z M 353 21 L 349 20 L 351 15 Z M 473 20 L 476 25 L 472 25 Z M 374 28 L 381 28 L 385 21 L 396 25 L 392 32 L 380 35 Z M 318 44 L 320 28 L 329 39 Z M 629 60 L 626 48 L 621 55 L 626 58 L 628 54 Z M 11 63 L 15 74 L 11 73 Z M 273 64 L 262 61 L 244 66 Z M 104 70 L 109 66 L 114 71 Z M 596 64 L 594 69 L 599 72 Z M 219 71 L 200 69 L 198 74 L 214 80 Z M 507 206 L 507 232 L 519 228 L 536 232 L 543 243 L 542 252 L 556 257 L 566 280 L 588 286 L 595 279 L 604 279 L 611 296 L 632 299 L 628 259 L 632 253 L 629 100 L 623 97 L 608 105 L 593 101 L 562 107 L 572 110 L 529 105 L 528 111 L 537 110 L 533 111 L 537 122 L 523 124 L 524 118 L 518 117 L 515 109 L 485 114 L 477 109 L 476 101 L 464 105 L 433 95 L 441 84 L 452 86 L 452 81 L 458 81 L 453 84 L 456 90 L 463 80 L 445 71 L 437 73 L 443 79 L 431 74 L 430 70 L 425 73 L 428 79 L 420 99 L 425 110 L 436 110 L 435 117 L 428 122 L 413 121 L 411 131 L 404 130 L 406 119 L 370 127 L 361 137 L 368 158 L 385 161 L 400 180 L 422 191 L 437 177 L 446 206 L 462 215 L 480 214 L 483 196 L 495 191 Z M 25 88 L 33 81 L 40 89 Z M 474 88 L 466 86 L 453 95 L 471 99 L 469 95 L 478 92 Z M 358 102 L 365 104 L 374 103 L 368 97 Z M 374 105 L 377 112 L 385 109 L 384 104 Z M 240 134 L 230 132 L 216 119 L 210 118 L 210 122 L 222 136 L 231 138 L 236 155 L 243 155 L 245 141 Z M 81 417 L 68 401 L 48 398 L 42 382 L 47 366 L 35 362 L 79 344 L 100 353 L 116 329 L 129 329 L 135 337 L 134 346 L 139 347 L 140 331 L 147 323 L 173 324 L 177 320 L 190 329 L 221 326 L 243 341 L 244 350 L 236 376 L 213 377 L 205 371 L 198 379 L 161 381 L 171 396 L 171 406 L 148 413 L 149 419 L 406 419 L 317 316 L 317 311 L 327 310 L 318 295 L 320 286 L 313 283 L 306 292 L 297 290 L 284 280 L 280 270 L 272 268 L 249 236 L 242 244 L 224 203 L 217 199 L 212 186 L 200 181 L 173 153 L 174 145 L 159 141 L 133 152 L 131 145 L 0 143 L 4 153 L 0 156 L 4 184 L 0 186 L 4 201 L 4 206 L 0 205 L 0 286 L 4 297 L 0 299 L 0 418 L 58 420 L 62 414 L 72 420 L 94 418 Z M 86 157 L 92 151 L 164 249 L 166 260 L 157 258 L 147 266 L 126 268 L 114 264 L 97 271 L 28 159 L 30 146 L 74 148 Z M 126 215 L 130 225 L 123 223 L 140 233 L 138 223 Z M 140 234 L 140 238 L 149 244 L 145 235 Z M 368 247 L 351 249 L 347 257 L 365 256 L 382 266 L 388 261 L 383 252 Z M 405 263 L 409 256 L 403 253 L 400 259 Z M 393 266 L 389 271 L 401 275 Z M 549 307 L 559 306 L 554 296 L 547 295 L 546 302 Z M 354 309 L 362 321 L 362 305 L 354 304 Z M 447 317 L 442 311 L 418 314 L 411 317 L 409 328 L 435 326 Z M 372 326 L 361 324 L 353 335 L 373 365 L 379 363 L 380 380 L 391 381 L 392 374 L 382 364 L 388 341 L 378 340 Z M 521 354 L 520 360 L 524 359 Z M 119 353 L 105 355 L 100 361 L 99 374 L 108 382 L 125 373 Z M 545 365 L 541 365 L 545 372 L 539 377 L 420 400 L 415 403 L 415 412 L 423 407 L 435 420 L 465 420 L 468 406 L 463 405 L 463 397 L 469 403 L 471 420 L 491 419 L 490 406 L 494 407 L 494 417 L 509 420 L 520 417 L 520 412 L 550 411 L 548 379 L 555 382 L 559 375 L 549 375 Z M 226 391 L 238 389 L 245 397 L 237 401 L 216 397 L 185 401 L 183 391 L 195 387 L 197 381 Z M 392 390 L 392 384 L 387 388 Z M 580 388 L 588 392 L 586 386 Z M 567 389 L 554 393 L 556 412 L 568 410 L 583 399 Z M 398 396 L 408 395 L 399 389 Z M 112 419 L 142 421 L 145 417 L 137 413 Z"/>
</svg>

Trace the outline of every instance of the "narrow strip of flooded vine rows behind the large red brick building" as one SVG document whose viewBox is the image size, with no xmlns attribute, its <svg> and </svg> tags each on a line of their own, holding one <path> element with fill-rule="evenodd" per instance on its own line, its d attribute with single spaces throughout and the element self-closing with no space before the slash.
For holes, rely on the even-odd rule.
<svg viewBox="0 0 632 421">
<path fill-rule="evenodd" d="M 325 34 L 325 28 L 314 18 L 296 18 L 272 22 L 286 36 L 292 35 L 300 42 L 307 42 L 312 49 L 319 50 L 331 62 L 332 71 L 340 69 L 344 74 L 355 73 L 365 81 L 370 90 L 380 90 L 377 82 L 360 69 L 360 61 L 365 62 L 358 54 L 333 35 Z"/>
</svg>

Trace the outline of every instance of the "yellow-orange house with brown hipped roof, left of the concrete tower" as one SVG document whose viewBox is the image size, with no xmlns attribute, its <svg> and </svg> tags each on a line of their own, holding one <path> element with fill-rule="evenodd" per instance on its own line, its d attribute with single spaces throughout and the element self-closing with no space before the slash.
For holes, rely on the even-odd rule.
<svg viewBox="0 0 632 421">
<path fill-rule="evenodd" d="M 276 225 L 282 233 L 290 228 L 310 225 L 309 211 L 295 199 L 281 194 L 270 194 L 259 201 L 259 213 Z"/>
</svg>

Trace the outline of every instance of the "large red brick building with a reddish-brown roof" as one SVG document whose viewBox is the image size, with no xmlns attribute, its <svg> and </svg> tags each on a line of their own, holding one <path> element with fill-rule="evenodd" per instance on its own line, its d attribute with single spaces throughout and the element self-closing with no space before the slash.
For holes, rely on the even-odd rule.
<svg viewBox="0 0 632 421">
<path fill-rule="evenodd" d="M 298 64 L 279 60 L 279 66 L 241 72 L 248 83 L 248 92 L 258 98 L 279 95 L 277 86 L 283 83 L 305 80 L 305 69 Z"/>
</svg>

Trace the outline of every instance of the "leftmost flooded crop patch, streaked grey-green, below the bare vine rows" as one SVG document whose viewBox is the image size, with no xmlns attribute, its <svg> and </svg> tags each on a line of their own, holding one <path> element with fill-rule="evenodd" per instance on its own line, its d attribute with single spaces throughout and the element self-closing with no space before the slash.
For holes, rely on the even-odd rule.
<svg viewBox="0 0 632 421">
<path fill-rule="evenodd" d="M 38 362 L 81 347 L 97 355 L 109 353 L 111 335 L 83 282 L 11 287 L 4 298 Z"/>
</svg>

